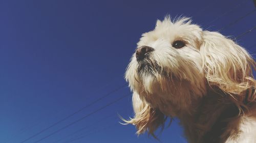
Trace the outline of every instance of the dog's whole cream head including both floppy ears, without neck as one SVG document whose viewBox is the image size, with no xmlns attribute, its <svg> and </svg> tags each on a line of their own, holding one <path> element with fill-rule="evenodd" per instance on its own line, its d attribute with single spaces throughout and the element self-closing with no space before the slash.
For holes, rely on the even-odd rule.
<svg viewBox="0 0 256 143">
<path fill-rule="evenodd" d="M 255 62 L 247 51 L 217 32 L 203 31 L 189 18 L 158 20 L 144 33 L 127 67 L 138 134 L 153 132 L 165 117 L 190 113 L 207 89 L 218 88 L 238 106 L 255 100 Z M 249 91 L 248 91 L 249 90 Z M 248 94 L 247 94 L 248 95 Z"/>
</svg>

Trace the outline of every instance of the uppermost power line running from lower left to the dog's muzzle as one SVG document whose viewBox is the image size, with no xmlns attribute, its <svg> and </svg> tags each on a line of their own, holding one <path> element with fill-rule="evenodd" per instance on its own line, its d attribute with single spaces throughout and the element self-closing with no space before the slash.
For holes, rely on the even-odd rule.
<svg viewBox="0 0 256 143">
<path fill-rule="evenodd" d="M 67 116 L 67 117 L 65 117 L 65 118 L 63 118 L 63 119 L 61 119 L 61 120 L 59 120 L 58 122 L 52 124 L 51 126 L 45 128 L 45 129 L 42 129 L 41 131 L 37 132 L 36 134 L 34 134 L 34 135 L 28 137 L 27 139 L 25 139 L 25 140 L 23 140 L 22 142 L 19 142 L 19 143 L 23 143 L 23 142 L 25 142 L 25 141 L 27 141 L 27 140 L 29 140 L 29 139 L 31 139 L 31 138 L 33 138 L 33 137 L 35 137 L 35 136 L 41 134 L 42 132 L 44 132 L 44 131 L 46 131 L 46 130 L 48 130 L 48 129 L 50 129 L 50 128 L 56 126 L 56 125 L 58 125 L 59 123 L 61 123 L 61 122 L 65 121 L 65 120 L 69 119 L 70 117 L 76 115 L 78 112 L 80 112 L 80 111 L 82 111 L 82 110 L 84 110 L 84 109 L 86 109 L 86 108 L 92 106 L 93 104 L 97 103 L 98 101 L 102 100 L 103 98 L 108 97 L 108 96 L 111 95 L 112 93 L 114 93 L 114 92 L 116 92 L 116 91 L 118 91 L 118 90 L 120 90 L 120 89 L 122 89 L 122 88 L 124 88 L 124 87 L 126 87 L 126 86 L 127 86 L 126 83 L 123 84 L 122 86 L 118 87 L 117 89 L 115 89 L 115 90 L 109 92 L 108 94 L 106 94 L 106 95 L 104 95 L 104 96 L 102 96 L 102 97 L 96 99 L 95 101 L 91 102 L 90 104 L 88 104 L 88 105 L 86 105 L 86 106 L 84 106 L 84 107 L 78 109 L 77 111 L 75 111 L 75 112 L 72 113 L 71 115 L 69 115 L 69 116 Z"/>
</svg>

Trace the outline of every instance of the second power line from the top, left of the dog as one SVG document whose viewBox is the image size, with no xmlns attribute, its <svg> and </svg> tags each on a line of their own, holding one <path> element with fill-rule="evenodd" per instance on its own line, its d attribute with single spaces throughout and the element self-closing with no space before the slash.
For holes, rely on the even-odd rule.
<svg viewBox="0 0 256 143">
<path fill-rule="evenodd" d="M 112 105 L 112 104 L 118 102 L 119 100 L 121 100 L 121 99 L 123 99 L 123 98 L 125 98 L 125 97 L 127 97 L 127 96 L 129 96 L 129 95 L 130 95 L 130 94 L 126 94 L 126 95 L 124 95 L 124 96 L 122 96 L 122 97 L 120 97 L 120 98 L 118 98 L 118 99 L 116 99 L 116 100 L 114 100 L 114 101 L 112 101 L 112 102 L 106 104 L 105 106 L 102 106 L 101 108 L 98 108 L 97 110 L 95 110 L 95 111 L 89 113 L 88 115 L 83 116 L 82 118 L 80 118 L 80 119 L 78 119 L 78 120 L 76 120 L 76 121 L 74 121 L 74 122 L 72 122 L 72 123 L 70 123 L 70 124 L 68 124 L 68 125 L 66 125 L 66 126 L 64 126 L 64 127 L 62 127 L 62 128 L 60 128 L 60 129 L 58 129 L 58 130 L 52 132 L 51 134 L 49 134 L 49 135 L 47 135 L 47 136 L 45 136 L 45 137 L 42 137 L 41 139 L 39 139 L 39 140 L 37 140 L 37 141 L 35 141 L 35 142 L 33 142 L 33 143 L 37 143 L 37 142 L 39 142 L 39 141 L 41 141 L 41 140 L 44 140 L 44 139 L 46 139 L 46 138 L 48 138 L 48 137 L 54 135 L 55 133 L 57 133 L 57 132 L 59 132 L 59 131 L 61 131 L 61 130 L 64 130 L 64 129 L 68 128 L 69 126 L 72 126 L 72 125 L 74 125 L 75 123 L 80 122 L 80 121 L 82 121 L 83 119 L 86 119 L 86 118 L 90 117 L 90 116 L 93 115 L 94 113 L 96 113 L 96 112 L 98 112 L 98 111 L 100 111 L 100 110 L 102 110 L 102 109 L 104 109 L 104 108 L 106 108 L 106 107 L 108 107 L 108 106 L 110 106 L 110 105 Z"/>
</svg>

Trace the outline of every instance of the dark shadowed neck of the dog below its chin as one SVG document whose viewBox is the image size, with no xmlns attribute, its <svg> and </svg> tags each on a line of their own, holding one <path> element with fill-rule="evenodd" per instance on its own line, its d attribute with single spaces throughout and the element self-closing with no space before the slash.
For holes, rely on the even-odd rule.
<svg viewBox="0 0 256 143">
<path fill-rule="evenodd" d="M 223 141 L 220 136 L 225 132 L 227 120 L 239 114 L 237 106 L 228 98 L 225 94 L 209 91 L 197 101 L 197 106 L 191 105 L 188 112 L 178 115 L 189 142 Z"/>
</svg>

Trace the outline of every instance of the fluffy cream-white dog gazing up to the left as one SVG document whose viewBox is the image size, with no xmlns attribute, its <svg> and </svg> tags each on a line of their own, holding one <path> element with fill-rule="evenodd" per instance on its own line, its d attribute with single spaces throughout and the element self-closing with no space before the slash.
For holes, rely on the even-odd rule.
<svg viewBox="0 0 256 143">
<path fill-rule="evenodd" d="M 188 142 L 256 142 L 256 63 L 218 32 L 189 18 L 157 20 L 127 67 L 137 133 L 178 117 Z"/>
</svg>

